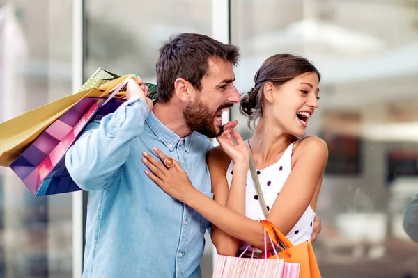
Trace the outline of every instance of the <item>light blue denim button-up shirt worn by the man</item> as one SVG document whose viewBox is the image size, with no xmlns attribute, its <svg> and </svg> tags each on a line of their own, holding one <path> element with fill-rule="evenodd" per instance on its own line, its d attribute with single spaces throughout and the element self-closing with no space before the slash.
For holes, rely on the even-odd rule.
<svg viewBox="0 0 418 278">
<path fill-rule="evenodd" d="M 147 117 L 148 116 L 148 117 Z M 180 138 L 134 97 L 92 122 L 65 156 L 68 172 L 88 191 L 83 277 L 201 277 L 209 222 L 151 181 L 142 152 L 172 156 L 195 188 L 212 198 L 208 138 Z"/>
</svg>

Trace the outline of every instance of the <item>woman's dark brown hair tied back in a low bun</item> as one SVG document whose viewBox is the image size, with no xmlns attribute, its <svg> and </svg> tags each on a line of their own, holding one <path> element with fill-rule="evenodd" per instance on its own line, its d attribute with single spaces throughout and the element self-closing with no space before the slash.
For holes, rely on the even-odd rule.
<svg viewBox="0 0 418 278">
<path fill-rule="evenodd" d="M 279 87 L 300 74 L 315 72 L 320 80 L 320 73 L 309 60 L 292 54 L 276 54 L 264 61 L 254 76 L 254 88 L 241 99 L 240 112 L 248 115 L 248 127 L 251 122 L 263 115 L 263 90 L 267 82 Z"/>
</svg>

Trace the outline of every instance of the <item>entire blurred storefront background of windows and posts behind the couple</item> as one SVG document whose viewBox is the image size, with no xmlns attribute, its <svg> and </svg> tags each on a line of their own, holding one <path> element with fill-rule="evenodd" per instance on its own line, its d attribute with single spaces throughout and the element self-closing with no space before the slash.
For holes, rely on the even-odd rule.
<svg viewBox="0 0 418 278">
<path fill-rule="evenodd" d="M 323 277 L 418 278 L 402 227 L 418 193 L 418 0 L 0 0 L 0 122 L 76 92 L 98 67 L 153 83 L 157 49 L 183 32 L 240 47 L 240 92 L 272 54 L 318 66 L 307 133 L 330 149 Z M 249 138 L 238 106 L 230 117 Z M 80 277 L 85 213 L 85 194 L 33 197 L 0 168 L 0 277 Z M 203 277 L 213 259 L 208 236 Z"/>
</svg>

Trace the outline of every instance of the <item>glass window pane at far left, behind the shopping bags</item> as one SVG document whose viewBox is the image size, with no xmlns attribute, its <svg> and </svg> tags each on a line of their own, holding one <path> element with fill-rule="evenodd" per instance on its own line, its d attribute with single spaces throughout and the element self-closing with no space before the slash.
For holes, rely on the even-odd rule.
<svg viewBox="0 0 418 278">
<path fill-rule="evenodd" d="M 71 93 L 72 1 L 2 1 L 0 122 Z M 71 195 L 0 167 L 0 277 L 72 277 Z"/>
</svg>

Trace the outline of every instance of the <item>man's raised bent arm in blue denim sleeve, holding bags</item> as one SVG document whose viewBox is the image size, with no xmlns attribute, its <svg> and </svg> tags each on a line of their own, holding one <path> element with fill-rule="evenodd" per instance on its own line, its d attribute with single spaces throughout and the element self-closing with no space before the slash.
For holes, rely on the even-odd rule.
<svg viewBox="0 0 418 278">
<path fill-rule="evenodd" d="M 130 99 L 100 122 L 88 124 L 65 154 L 65 166 L 83 190 L 107 188 L 125 163 L 131 140 L 144 131 L 144 122 L 152 109 L 145 88 L 130 82 L 127 90 Z"/>
</svg>

